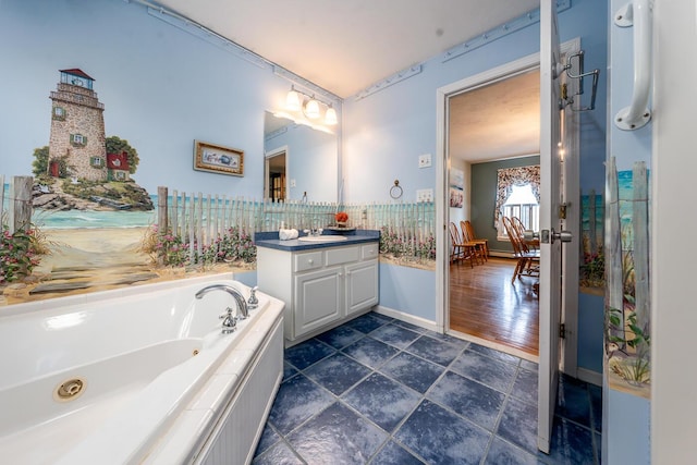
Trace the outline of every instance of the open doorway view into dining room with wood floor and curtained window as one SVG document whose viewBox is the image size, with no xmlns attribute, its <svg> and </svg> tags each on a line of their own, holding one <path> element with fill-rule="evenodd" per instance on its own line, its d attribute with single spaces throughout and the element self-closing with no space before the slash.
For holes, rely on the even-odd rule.
<svg viewBox="0 0 697 465">
<path fill-rule="evenodd" d="M 537 278 L 512 280 L 517 261 L 503 222 L 493 212 L 501 209 L 497 199 L 501 188 L 498 183 L 502 180 L 498 174 L 510 173 L 509 182 L 509 175 L 539 167 L 539 86 L 537 66 L 515 70 L 452 95 L 447 103 L 451 171 L 462 169 L 469 173 L 465 183 L 468 208 L 451 206 L 450 221 L 456 225 L 469 221 L 477 238 L 486 240 L 490 250 L 484 262 L 456 261 L 449 266 L 448 329 L 530 360 L 537 359 L 539 345 Z M 516 180 L 514 185 L 518 182 L 523 180 Z M 535 185 L 538 184 L 539 179 Z M 534 206 L 526 208 L 537 205 L 535 200 Z M 537 218 L 517 217 L 529 221 Z M 539 230 L 537 224 L 525 228 Z"/>
</svg>

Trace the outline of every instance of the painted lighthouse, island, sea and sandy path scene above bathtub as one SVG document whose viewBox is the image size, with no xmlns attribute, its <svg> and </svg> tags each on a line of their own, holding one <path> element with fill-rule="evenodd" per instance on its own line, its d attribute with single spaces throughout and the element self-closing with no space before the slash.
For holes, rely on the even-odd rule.
<svg viewBox="0 0 697 465">
<path fill-rule="evenodd" d="M 176 248 L 188 244 L 181 234 L 172 236 L 168 227 L 157 229 L 155 207 L 162 199 L 135 181 L 137 149 L 125 138 L 106 135 L 105 105 L 94 83 L 81 69 L 59 71 L 57 89 L 50 93 L 49 144 L 26 157 L 33 176 L 2 182 L 0 304 L 181 278 L 186 272 L 220 272 L 218 261 L 224 270 L 235 270 L 237 261 L 248 269 L 248 256 L 240 260 L 227 253 L 204 267 L 200 245 L 194 260 L 198 267 L 186 269 L 192 260 L 175 259 Z M 179 204 L 183 211 L 186 203 Z M 181 221 L 180 228 L 189 223 Z M 220 237 L 227 233 L 236 235 L 233 245 L 239 248 L 239 229 L 229 228 Z M 198 231 L 192 236 L 199 236 Z M 231 246 L 221 241 L 216 254 Z"/>
</svg>

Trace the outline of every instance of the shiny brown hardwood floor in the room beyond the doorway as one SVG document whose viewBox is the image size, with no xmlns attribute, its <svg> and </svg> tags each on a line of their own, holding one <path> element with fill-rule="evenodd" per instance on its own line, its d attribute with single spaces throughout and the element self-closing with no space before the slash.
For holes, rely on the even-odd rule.
<svg viewBox="0 0 697 465">
<path fill-rule="evenodd" d="M 526 354 L 538 355 L 539 302 L 535 278 L 511 284 L 515 261 L 450 266 L 450 328 Z"/>
</svg>

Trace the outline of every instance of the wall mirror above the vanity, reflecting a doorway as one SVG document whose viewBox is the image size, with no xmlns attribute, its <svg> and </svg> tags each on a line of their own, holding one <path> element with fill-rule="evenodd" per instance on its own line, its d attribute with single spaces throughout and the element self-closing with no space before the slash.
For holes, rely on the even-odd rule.
<svg viewBox="0 0 697 465">
<path fill-rule="evenodd" d="M 335 134 L 274 117 L 264 120 L 264 196 L 308 201 L 338 200 L 339 144 Z"/>
</svg>

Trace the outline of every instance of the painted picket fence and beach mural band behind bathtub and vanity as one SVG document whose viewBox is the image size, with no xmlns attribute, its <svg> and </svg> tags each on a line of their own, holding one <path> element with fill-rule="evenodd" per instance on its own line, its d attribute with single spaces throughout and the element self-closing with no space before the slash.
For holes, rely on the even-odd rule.
<svg viewBox="0 0 697 465">
<path fill-rule="evenodd" d="M 16 179 L 11 185 L 0 183 L 0 305 L 194 273 L 254 270 L 255 232 L 331 227 L 339 211 L 347 215 L 348 229 L 380 230 L 382 260 L 435 268 L 432 203 L 272 203 L 160 187 L 150 196 L 155 210 L 102 206 L 47 211 L 32 206 L 41 195 L 40 185 L 30 176 L 20 178 L 24 187 L 19 191 Z M 21 228 L 10 224 L 21 217 L 16 209 L 25 211 Z"/>
</svg>

